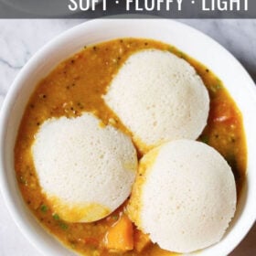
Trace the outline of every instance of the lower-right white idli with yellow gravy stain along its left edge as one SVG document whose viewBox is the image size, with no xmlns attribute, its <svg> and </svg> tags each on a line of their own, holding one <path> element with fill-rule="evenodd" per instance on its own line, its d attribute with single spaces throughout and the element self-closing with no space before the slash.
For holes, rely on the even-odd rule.
<svg viewBox="0 0 256 256">
<path fill-rule="evenodd" d="M 225 159 L 207 144 L 177 140 L 144 155 L 128 212 L 162 249 L 187 253 L 221 240 L 235 208 Z"/>
</svg>

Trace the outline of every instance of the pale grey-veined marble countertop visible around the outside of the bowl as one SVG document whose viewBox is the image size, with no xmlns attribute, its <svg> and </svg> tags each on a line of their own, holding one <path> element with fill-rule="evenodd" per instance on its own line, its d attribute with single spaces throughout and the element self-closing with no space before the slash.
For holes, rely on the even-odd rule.
<svg viewBox="0 0 256 256">
<path fill-rule="evenodd" d="M 48 42 L 82 19 L 0 20 L 0 106 L 18 71 Z M 180 20 L 216 39 L 240 60 L 256 82 L 256 19 Z M 256 255 L 256 225 L 231 256 Z M 27 241 L 10 218 L 0 195 L 0 256 L 36 256 L 39 252 Z"/>
</svg>

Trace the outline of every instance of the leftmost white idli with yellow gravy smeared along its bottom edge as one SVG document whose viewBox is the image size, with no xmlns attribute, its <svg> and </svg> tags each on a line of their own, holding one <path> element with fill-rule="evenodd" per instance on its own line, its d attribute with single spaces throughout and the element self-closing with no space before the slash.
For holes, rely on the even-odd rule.
<svg viewBox="0 0 256 256">
<path fill-rule="evenodd" d="M 131 139 L 90 113 L 43 123 L 32 155 L 51 207 L 71 222 L 109 215 L 131 193 L 137 171 Z"/>
</svg>

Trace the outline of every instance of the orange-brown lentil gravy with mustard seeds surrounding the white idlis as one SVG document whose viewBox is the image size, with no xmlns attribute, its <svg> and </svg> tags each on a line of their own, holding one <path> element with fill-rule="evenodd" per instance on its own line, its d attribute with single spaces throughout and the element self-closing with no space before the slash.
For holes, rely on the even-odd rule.
<svg viewBox="0 0 256 256">
<path fill-rule="evenodd" d="M 175 255 L 161 250 L 132 223 L 128 225 L 132 235 L 129 248 L 114 251 L 105 246 L 106 234 L 113 224 L 125 216 L 127 202 L 107 218 L 92 223 L 69 223 L 60 219 L 58 212 L 52 210 L 48 199 L 41 192 L 31 155 L 31 145 L 40 124 L 51 117 L 74 117 L 82 112 L 94 112 L 102 123 L 111 123 L 129 133 L 105 105 L 101 95 L 106 92 L 125 59 L 145 48 L 167 50 L 186 59 L 204 80 L 210 96 L 210 112 L 208 125 L 198 140 L 213 146 L 226 158 L 234 173 L 240 196 L 247 159 L 242 117 L 221 81 L 209 69 L 178 49 L 150 39 L 123 38 L 85 46 L 79 53 L 61 62 L 37 84 L 27 103 L 15 146 L 16 178 L 28 208 L 51 234 L 82 255 Z M 142 156 L 140 149 L 137 149 L 139 157 Z"/>
</svg>

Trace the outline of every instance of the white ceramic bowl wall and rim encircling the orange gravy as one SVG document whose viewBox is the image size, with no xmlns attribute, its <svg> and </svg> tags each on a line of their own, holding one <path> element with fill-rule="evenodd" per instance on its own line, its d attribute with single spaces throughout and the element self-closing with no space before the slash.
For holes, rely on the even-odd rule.
<svg viewBox="0 0 256 256">
<path fill-rule="evenodd" d="M 0 117 L 0 187 L 16 225 L 45 255 L 73 255 L 38 224 L 19 192 L 14 170 L 14 145 L 17 129 L 38 80 L 61 60 L 84 45 L 116 37 L 148 37 L 169 43 L 205 64 L 224 82 L 243 115 L 248 148 L 247 179 L 229 231 L 216 245 L 197 252 L 203 255 L 227 255 L 244 238 L 256 216 L 256 89 L 248 73 L 229 52 L 194 28 L 165 19 L 100 19 L 74 27 L 31 58 L 16 77 Z"/>
</svg>

